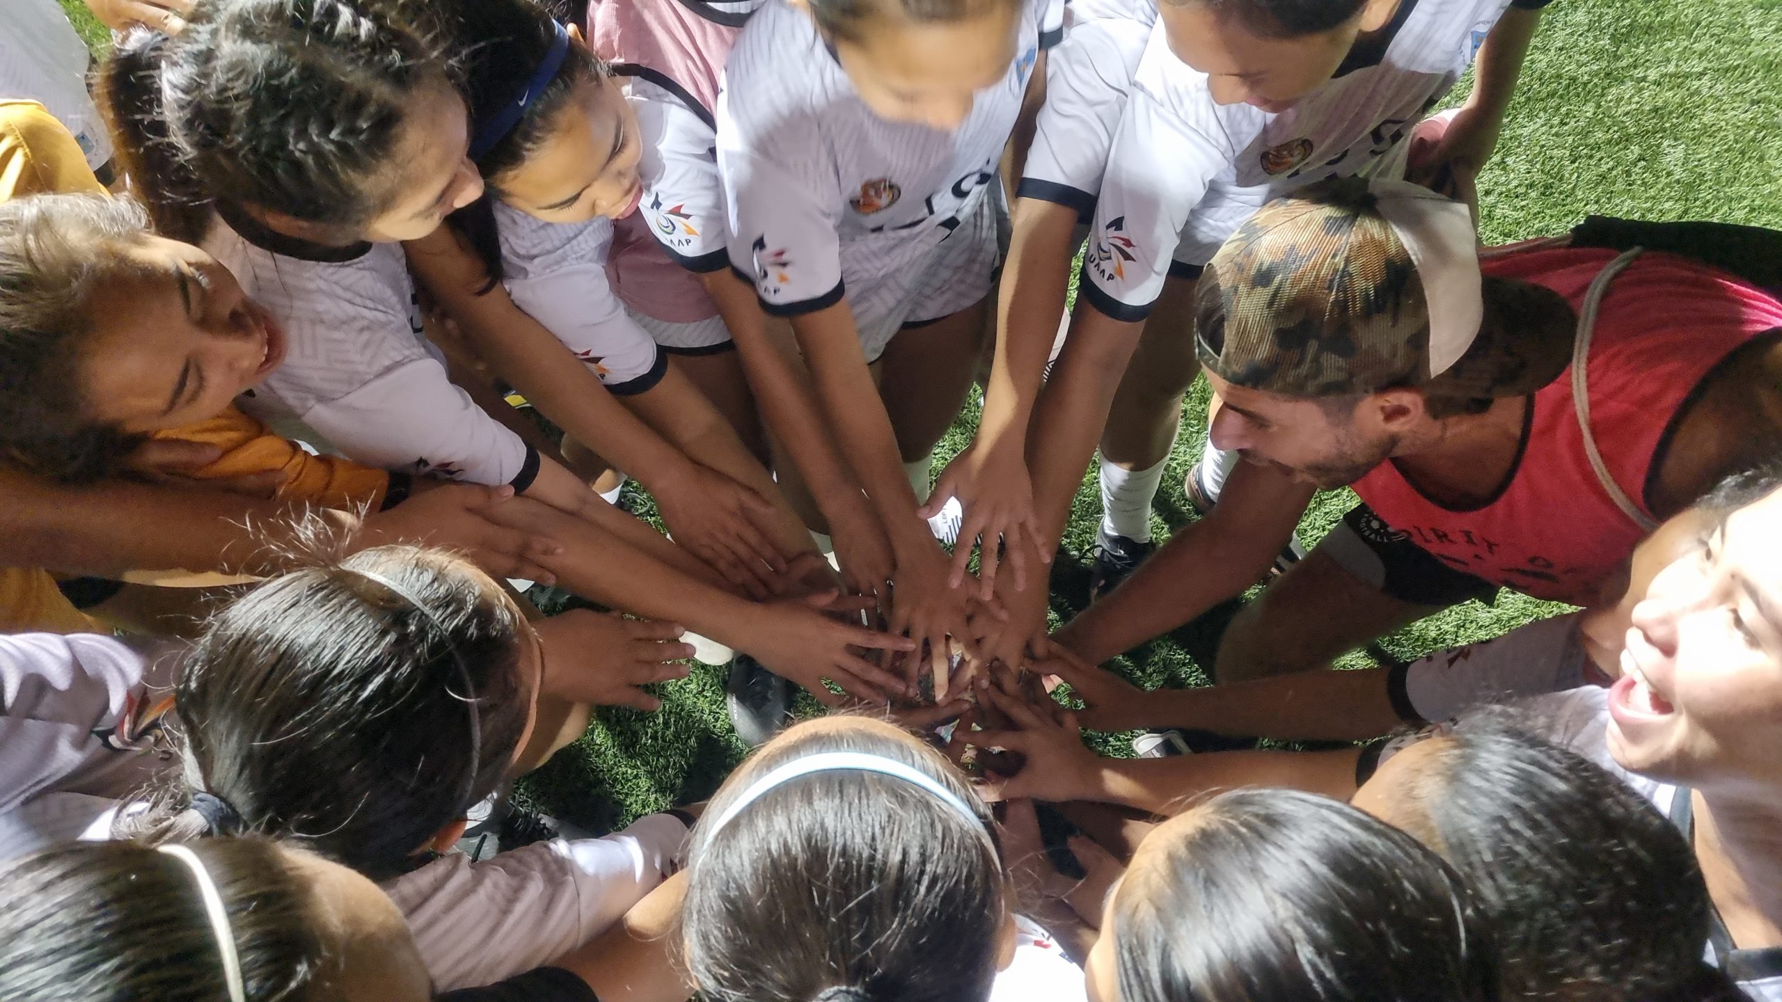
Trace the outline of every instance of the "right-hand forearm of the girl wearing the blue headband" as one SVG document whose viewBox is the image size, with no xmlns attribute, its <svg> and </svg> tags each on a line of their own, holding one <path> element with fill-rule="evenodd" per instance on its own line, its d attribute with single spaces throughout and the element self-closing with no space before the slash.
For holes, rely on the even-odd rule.
<svg viewBox="0 0 1782 1002">
<path fill-rule="evenodd" d="M 736 341 L 768 431 L 798 467 L 816 506 L 834 519 L 839 505 L 859 505 L 861 485 L 827 431 L 816 390 L 768 335 L 770 321 L 756 301 L 756 291 L 731 271 L 713 271 L 702 282 Z"/>
</svg>

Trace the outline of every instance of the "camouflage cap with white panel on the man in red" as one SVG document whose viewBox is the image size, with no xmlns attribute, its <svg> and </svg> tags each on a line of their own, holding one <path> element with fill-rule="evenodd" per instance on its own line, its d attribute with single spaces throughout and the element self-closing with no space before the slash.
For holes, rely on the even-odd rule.
<svg viewBox="0 0 1782 1002">
<path fill-rule="evenodd" d="M 1533 392 L 1565 371 L 1554 324 L 1497 323 L 1467 207 L 1406 182 L 1335 178 L 1262 207 L 1196 291 L 1219 378 L 1294 398 L 1424 387 Z"/>
</svg>

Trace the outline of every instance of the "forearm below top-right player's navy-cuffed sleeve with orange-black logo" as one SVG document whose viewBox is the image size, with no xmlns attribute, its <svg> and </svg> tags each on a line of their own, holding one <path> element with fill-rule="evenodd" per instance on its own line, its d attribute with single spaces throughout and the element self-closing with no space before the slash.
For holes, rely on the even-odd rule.
<svg viewBox="0 0 1782 1002">
<path fill-rule="evenodd" d="M 1039 392 L 1026 465 L 1046 546 L 1057 546 L 1064 535 L 1071 499 L 1107 426 L 1114 392 L 1139 346 L 1140 330 L 1142 324 L 1121 323 L 1080 305 L 1051 380 Z"/>
</svg>

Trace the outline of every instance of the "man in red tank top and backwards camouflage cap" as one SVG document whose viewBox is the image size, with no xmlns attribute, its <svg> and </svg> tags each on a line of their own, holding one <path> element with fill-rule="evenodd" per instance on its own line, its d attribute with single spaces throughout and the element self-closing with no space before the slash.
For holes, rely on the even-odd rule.
<svg viewBox="0 0 1782 1002">
<path fill-rule="evenodd" d="M 1481 255 L 1465 207 L 1399 182 L 1262 209 L 1206 267 L 1198 339 L 1212 440 L 1246 462 L 1060 631 L 1083 660 L 1240 594 L 1315 490 L 1361 505 L 1233 620 L 1219 681 L 1326 667 L 1500 587 L 1613 603 L 1657 521 L 1782 455 L 1775 296 L 1570 239 Z"/>
</svg>

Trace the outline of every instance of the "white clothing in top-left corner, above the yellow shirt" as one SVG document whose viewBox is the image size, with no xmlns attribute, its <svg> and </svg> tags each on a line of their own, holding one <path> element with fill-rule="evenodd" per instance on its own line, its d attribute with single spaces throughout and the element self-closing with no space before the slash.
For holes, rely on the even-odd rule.
<svg viewBox="0 0 1782 1002">
<path fill-rule="evenodd" d="M 5 0 L 0 16 L 0 98 L 41 103 L 98 171 L 112 159 L 105 119 L 87 93 L 87 45 L 55 0 Z"/>
</svg>

